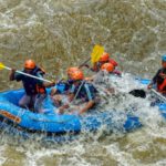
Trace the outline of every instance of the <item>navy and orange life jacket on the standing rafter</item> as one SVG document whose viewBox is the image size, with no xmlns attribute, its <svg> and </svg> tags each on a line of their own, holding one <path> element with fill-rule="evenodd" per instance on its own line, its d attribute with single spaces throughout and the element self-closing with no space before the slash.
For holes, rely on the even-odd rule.
<svg viewBox="0 0 166 166">
<path fill-rule="evenodd" d="M 38 76 L 38 73 L 40 73 L 42 76 L 45 74 L 45 72 L 39 66 L 35 66 L 35 69 L 30 74 Z M 45 87 L 42 85 L 42 83 L 39 83 L 38 80 L 35 79 L 24 76 L 22 82 L 23 82 L 23 86 L 28 95 L 46 93 Z"/>
</svg>

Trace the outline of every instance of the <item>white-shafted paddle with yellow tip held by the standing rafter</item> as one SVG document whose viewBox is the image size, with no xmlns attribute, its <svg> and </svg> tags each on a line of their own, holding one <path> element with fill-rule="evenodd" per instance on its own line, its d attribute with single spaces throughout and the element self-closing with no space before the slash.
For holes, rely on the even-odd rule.
<svg viewBox="0 0 166 166">
<path fill-rule="evenodd" d="M 6 66 L 3 63 L 0 62 L 0 70 L 3 70 L 3 69 L 9 70 L 9 71 L 12 70 L 11 68 Z M 33 77 L 33 79 L 37 79 L 37 80 L 40 80 L 40 81 L 52 83 L 52 81 L 49 81 L 49 80 L 45 80 L 45 79 L 42 79 L 42 77 L 38 77 L 38 76 L 34 76 L 34 75 L 31 75 L 31 74 L 28 74 L 28 73 L 24 73 L 24 72 L 21 72 L 21 71 L 15 71 L 15 72 L 20 73 L 22 75 L 29 76 L 29 77 Z"/>
</svg>

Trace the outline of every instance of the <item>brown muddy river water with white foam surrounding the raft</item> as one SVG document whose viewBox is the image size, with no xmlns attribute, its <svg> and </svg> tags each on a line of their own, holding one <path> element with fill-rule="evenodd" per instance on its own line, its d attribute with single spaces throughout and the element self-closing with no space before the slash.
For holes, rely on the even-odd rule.
<svg viewBox="0 0 166 166">
<path fill-rule="evenodd" d="M 166 0 L 0 0 L 0 62 L 21 70 L 32 58 L 54 79 L 86 60 L 97 43 L 122 71 L 151 77 L 166 53 L 165 28 Z M 0 71 L 0 90 L 20 87 L 8 74 Z M 45 146 L 1 133 L 0 165 L 165 166 L 165 122 L 145 111 L 142 129 L 83 134 L 68 144 Z"/>
</svg>

